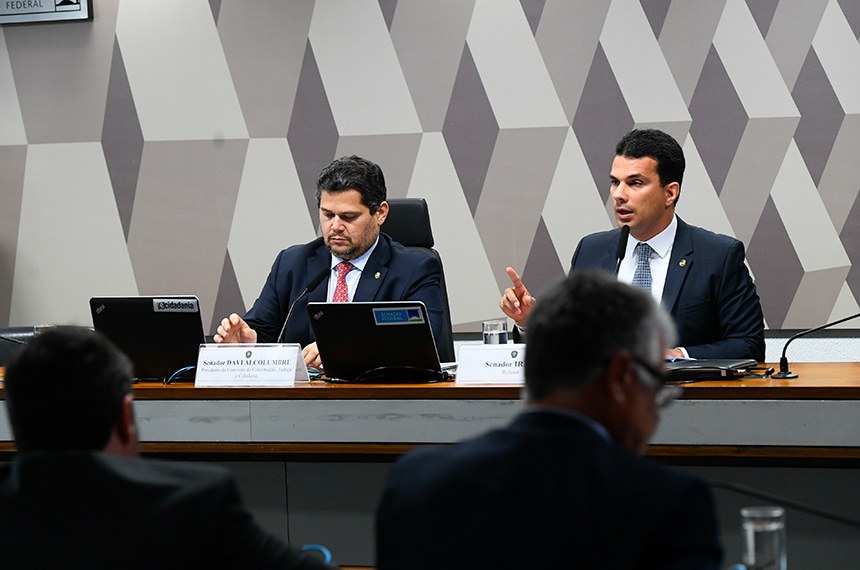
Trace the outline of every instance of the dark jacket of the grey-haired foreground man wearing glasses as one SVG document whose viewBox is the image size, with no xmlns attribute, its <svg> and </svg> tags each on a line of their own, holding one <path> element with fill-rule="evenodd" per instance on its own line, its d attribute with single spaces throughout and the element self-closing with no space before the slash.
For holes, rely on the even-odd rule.
<svg viewBox="0 0 860 570">
<path fill-rule="evenodd" d="M 716 570 L 722 558 L 703 481 L 546 410 L 402 457 L 376 542 L 379 570 Z"/>
</svg>

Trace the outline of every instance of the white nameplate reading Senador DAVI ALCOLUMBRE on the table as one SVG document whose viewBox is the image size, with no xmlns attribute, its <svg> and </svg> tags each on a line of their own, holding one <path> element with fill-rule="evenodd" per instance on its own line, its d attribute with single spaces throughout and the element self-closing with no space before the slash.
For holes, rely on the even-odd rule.
<svg viewBox="0 0 860 570">
<path fill-rule="evenodd" d="M 298 344 L 206 344 L 200 346 L 198 388 L 282 388 L 308 382 Z"/>
</svg>

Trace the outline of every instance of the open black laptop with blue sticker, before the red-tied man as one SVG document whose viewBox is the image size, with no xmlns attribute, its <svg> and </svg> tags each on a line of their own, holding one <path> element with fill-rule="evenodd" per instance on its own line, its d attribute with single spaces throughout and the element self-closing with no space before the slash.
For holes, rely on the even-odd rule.
<svg viewBox="0 0 860 570">
<path fill-rule="evenodd" d="M 308 303 L 326 380 L 446 380 L 421 301 Z"/>
</svg>

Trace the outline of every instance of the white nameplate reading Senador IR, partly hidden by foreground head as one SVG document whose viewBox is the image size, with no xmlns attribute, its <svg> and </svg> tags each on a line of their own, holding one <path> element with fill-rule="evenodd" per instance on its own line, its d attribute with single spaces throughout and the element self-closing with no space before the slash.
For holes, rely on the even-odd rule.
<svg viewBox="0 0 860 570">
<path fill-rule="evenodd" d="M 457 384 L 512 384 L 525 375 L 526 345 L 464 344 L 457 354 Z"/>
</svg>

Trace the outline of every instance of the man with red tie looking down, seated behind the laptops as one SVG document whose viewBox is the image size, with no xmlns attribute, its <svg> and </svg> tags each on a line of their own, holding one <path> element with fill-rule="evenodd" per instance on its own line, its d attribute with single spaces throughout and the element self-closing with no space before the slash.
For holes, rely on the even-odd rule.
<svg viewBox="0 0 860 570">
<path fill-rule="evenodd" d="M 304 304 L 281 331 L 293 302 L 310 289 L 308 301 L 422 301 L 439 342 L 441 267 L 380 233 L 388 215 L 382 169 L 358 156 L 339 158 L 320 173 L 316 196 L 322 237 L 283 250 L 254 306 L 244 318 L 223 319 L 215 341 L 297 342 L 305 363 L 320 366 Z"/>
</svg>

